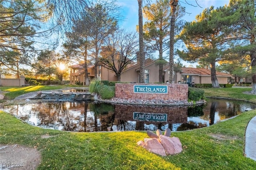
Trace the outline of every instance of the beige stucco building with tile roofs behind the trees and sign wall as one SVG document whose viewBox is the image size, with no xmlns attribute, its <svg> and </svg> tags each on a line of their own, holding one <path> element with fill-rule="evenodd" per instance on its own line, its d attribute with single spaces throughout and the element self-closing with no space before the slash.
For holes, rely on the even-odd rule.
<svg viewBox="0 0 256 170">
<path fill-rule="evenodd" d="M 90 81 L 94 78 L 94 66 L 88 67 L 88 76 Z M 130 65 L 127 69 L 121 73 L 121 82 L 140 83 L 140 65 L 135 63 Z M 182 68 L 182 71 L 175 72 L 174 83 L 182 84 L 210 84 L 211 71 L 202 68 Z M 231 81 L 232 75 L 216 72 L 218 82 L 220 84 L 227 84 Z M 98 66 L 98 79 L 117 81 L 115 73 L 105 67 Z M 169 79 L 169 65 L 164 65 L 163 80 L 164 82 Z M 145 61 L 145 83 L 157 83 L 159 82 L 159 66 L 152 59 L 146 59 Z M 85 73 L 80 65 L 70 66 L 70 84 L 74 85 L 79 82 L 81 85 L 85 84 Z"/>
</svg>

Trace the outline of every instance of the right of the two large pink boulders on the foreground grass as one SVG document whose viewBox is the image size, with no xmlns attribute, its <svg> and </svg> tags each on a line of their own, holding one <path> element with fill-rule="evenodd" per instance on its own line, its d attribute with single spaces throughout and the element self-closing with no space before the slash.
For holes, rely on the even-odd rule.
<svg viewBox="0 0 256 170">
<path fill-rule="evenodd" d="M 167 137 L 164 135 L 158 136 L 162 146 L 164 147 L 167 155 L 178 154 L 182 152 L 182 145 L 180 139 L 176 137 Z"/>
</svg>

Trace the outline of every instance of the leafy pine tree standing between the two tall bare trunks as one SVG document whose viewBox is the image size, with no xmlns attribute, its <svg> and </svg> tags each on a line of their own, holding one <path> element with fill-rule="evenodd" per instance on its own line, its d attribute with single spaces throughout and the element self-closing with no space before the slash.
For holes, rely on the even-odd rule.
<svg viewBox="0 0 256 170">
<path fill-rule="evenodd" d="M 166 63 L 164 51 L 169 49 L 171 11 L 169 0 L 160 0 L 155 4 L 146 5 L 143 8 L 144 17 L 147 21 L 144 24 L 144 38 L 149 48 L 158 51 L 159 57 L 156 63 L 159 65 L 159 82 L 163 82 L 163 65 Z M 182 17 L 184 10 L 177 7 L 176 21 Z M 176 34 L 183 26 L 182 21 L 176 26 Z"/>
</svg>

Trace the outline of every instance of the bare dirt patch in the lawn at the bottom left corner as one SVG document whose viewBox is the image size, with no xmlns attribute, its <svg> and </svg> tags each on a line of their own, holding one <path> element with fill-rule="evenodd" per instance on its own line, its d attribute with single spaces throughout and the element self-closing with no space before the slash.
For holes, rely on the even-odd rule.
<svg viewBox="0 0 256 170">
<path fill-rule="evenodd" d="M 41 162 L 35 148 L 0 144 L 0 170 L 34 170 Z"/>
</svg>

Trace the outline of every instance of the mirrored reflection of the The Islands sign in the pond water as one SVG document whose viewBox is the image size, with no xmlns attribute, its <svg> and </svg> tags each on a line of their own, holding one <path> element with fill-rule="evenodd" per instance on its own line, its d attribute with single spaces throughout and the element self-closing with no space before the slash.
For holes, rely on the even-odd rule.
<svg viewBox="0 0 256 170">
<path fill-rule="evenodd" d="M 155 122 L 167 122 L 167 114 L 164 113 L 133 113 L 133 119 L 134 120 L 140 120 L 140 121 L 155 121 Z"/>
</svg>

